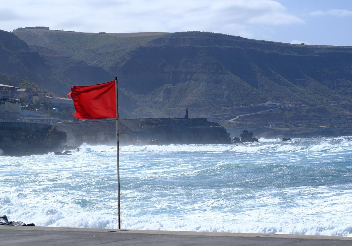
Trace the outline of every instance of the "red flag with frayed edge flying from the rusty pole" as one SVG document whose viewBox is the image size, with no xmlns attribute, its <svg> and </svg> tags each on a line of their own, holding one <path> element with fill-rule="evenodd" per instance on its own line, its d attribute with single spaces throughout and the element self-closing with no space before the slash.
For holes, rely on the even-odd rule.
<svg viewBox="0 0 352 246">
<path fill-rule="evenodd" d="M 116 118 L 115 80 L 88 86 L 73 86 L 72 97 L 78 119 Z"/>
</svg>

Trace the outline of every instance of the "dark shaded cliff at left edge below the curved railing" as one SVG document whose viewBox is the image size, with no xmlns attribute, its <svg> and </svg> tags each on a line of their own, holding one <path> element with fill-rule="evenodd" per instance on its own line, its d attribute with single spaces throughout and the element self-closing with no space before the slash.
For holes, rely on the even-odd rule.
<svg viewBox="0 0 352 246">
<path fill-rule="evenodd" d="M 61 151 L 66 133 L 51 125 L 0 123 L 0 155 L 23 156 Z"/>
</svg>

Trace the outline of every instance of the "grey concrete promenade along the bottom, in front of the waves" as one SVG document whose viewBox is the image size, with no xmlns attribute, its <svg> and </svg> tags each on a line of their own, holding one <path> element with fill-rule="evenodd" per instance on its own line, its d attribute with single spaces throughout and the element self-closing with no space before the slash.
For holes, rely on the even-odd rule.
<svg viewBox="0 0 352 246">
<path fill-rule="evenodd" d="M 352 238 L 254 234 L 225 232 L 142 231 L 118 229 L 88 229 L 66 227 L 0 226 L 3 245 L 90 246 L 90 245 L 216 245 L 216 246 L 279 246 L 279 245 L 352 245 Z"/>
</svg>

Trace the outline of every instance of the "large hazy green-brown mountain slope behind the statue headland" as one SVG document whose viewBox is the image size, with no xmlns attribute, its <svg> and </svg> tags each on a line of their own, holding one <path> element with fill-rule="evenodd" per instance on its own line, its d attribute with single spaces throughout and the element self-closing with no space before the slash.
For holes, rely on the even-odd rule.
<svg viewBox="0 0 352 246">
<path fill-rule="evenodd" d="M 32 29 L 14 33 L 30 45 L 118 76 L 123 91 L 136 100 L 138 116 L 165 117 L 169 110 L 171 116 L 182 116 L 186 107 L 191 116 L 236 114 L 228 105 L 269 100 L 330 110 L 331 103 L 350 102 L 352 96 L 352 47 L 292 45 L 206 32 L 133 37 Z"/>
</svg>

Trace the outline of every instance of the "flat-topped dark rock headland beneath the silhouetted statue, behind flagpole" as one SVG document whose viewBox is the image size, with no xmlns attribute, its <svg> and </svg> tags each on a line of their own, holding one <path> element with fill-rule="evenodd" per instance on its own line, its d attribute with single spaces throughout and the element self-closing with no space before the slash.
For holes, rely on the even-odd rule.
<svg viewBox="0 0 352 246">
<path fill-rule="evenodd" d="M 115 120 L 59 123 L 67 134 L 67 145 L 82 143 L 116 145 Z M 161 144 L 227 144 L 230 134 L 225 128 L 204 118 L 120 119 L 120 145 L 144 145 L 149 139 Z"/>
</svg>

